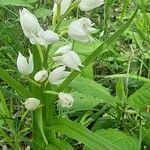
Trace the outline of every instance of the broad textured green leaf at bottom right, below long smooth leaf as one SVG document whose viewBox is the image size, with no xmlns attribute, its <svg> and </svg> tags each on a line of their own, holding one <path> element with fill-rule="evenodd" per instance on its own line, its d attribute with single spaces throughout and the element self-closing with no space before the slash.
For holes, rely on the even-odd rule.
<svg viewBox="0 0 150 150">
<path fill-rule="evenodd" d="M 100 137 L 107 139 L 113 143 L 114 146 L 119 147 L 120 150 L 139 150 L 138 140 L 116 129 L 98 130 L 96 131 Z M 86 148 L 85 150 L 93 150 Z M 111 150 L 111 149 L 110 149 Z"/>
</svg>

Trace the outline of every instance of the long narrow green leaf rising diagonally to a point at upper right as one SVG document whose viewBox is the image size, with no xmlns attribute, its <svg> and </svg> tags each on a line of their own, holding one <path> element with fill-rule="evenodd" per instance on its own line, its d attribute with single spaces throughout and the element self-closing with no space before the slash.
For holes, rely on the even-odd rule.
<svg viewBox="0 0 150 150">
<path fill-rule="evenodd" d="M 116 39 L 123 34 L 123 32 L 129 27 L 129 25 L 134 20 L 136 14 L 138 12 L 138 9 L 134 12 L 132 17 L 112 36 L 110 36 L 106 41 L 104 41 L 98 48 L 95 49 L 94 52 L 92 52 L 86 60 L 83 62 L 84 67 L 88 66 L 100 53 L 103 53 L 106 49 L 108 49 L 115 41 Z M 57 91 L 63 91 L 67 85 L 79 74 L 78 71 L 73 71 L 66 80 L 58 87 Z"/>
</svg>

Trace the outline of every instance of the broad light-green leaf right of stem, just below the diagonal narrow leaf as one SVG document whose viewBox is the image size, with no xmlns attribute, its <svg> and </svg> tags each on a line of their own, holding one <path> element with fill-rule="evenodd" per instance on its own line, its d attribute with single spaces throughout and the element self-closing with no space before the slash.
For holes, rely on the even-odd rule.
<svg viewBox="0 0 150 150">
<path fill-rule="evenodd" d="M 101 99 L 103 102 L 112 102 L 114 100 L 114 97 L 110 95 L 108 89 L 87 78 L 78 77 L 69 86 L 79 93 Z"/>
</svg>

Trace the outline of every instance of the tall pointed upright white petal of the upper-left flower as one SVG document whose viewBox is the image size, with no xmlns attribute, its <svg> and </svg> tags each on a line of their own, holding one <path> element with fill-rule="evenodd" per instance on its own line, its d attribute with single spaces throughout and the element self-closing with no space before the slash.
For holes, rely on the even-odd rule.
<svg viewBox="0 0 150 150">
<path fill-rule="evenodd" d="M 40 27 L 37 18 L 27 9 L 20 10 L 20 23 L 24 34 L 31 38 L 32 34 L 37 35 L 42 28 Z"/>
</svg>

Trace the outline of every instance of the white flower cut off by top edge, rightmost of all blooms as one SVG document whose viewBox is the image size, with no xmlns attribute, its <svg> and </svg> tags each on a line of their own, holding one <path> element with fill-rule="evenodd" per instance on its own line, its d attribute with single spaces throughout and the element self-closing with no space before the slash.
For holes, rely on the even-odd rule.
<svg viewBox="0 0 150 150">
<path fill-rule="evenodd" d="M 101 6 L 102 4 L 104 4 L 104 0 L 82 0 L 78 6 L 82 11 L 89 11 Z"/>
</svg>

